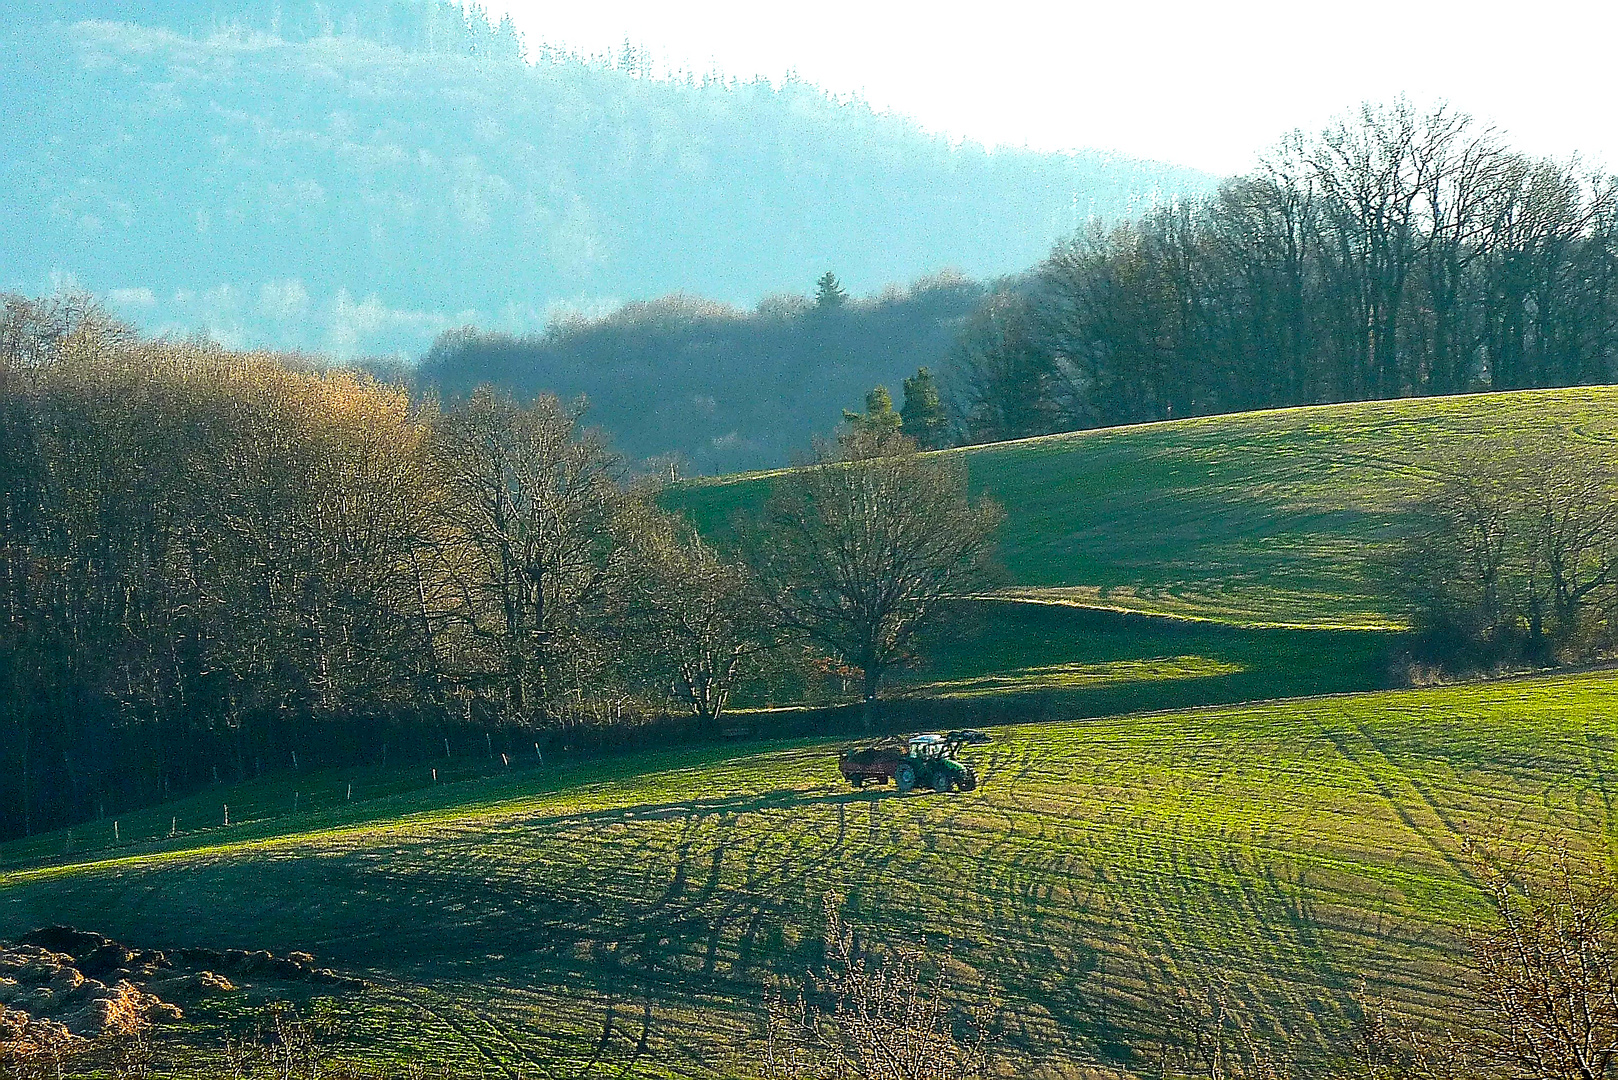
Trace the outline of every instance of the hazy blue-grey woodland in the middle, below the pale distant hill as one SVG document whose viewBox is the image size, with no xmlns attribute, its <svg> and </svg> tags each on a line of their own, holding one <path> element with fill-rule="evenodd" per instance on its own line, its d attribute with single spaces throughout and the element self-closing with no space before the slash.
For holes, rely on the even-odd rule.
<svg viewBox="0 0 1618 1080">
<path fill-rule="evenodd" d="M 534 335 L 451 330 L 414 377 L 450 398 L 482 384 L 584 397 L 625 453 L 680 471 L 780 466 L 872 384 L 896 390 L 947 356 L 984 295 L 937 275 L 856 300 L 832 275 L 752 311 L 668 296 Z"/>
</svg>

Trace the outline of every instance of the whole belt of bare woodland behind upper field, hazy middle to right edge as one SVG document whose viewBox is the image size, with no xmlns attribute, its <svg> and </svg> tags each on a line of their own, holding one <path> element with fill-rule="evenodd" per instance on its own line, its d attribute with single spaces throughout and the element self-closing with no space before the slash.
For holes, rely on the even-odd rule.
<svg viewBox="0 0 1618 1080">
<path fill-rule="evenodd" d="M 456 330 L 419 377 L 584 393 L 637 457 L 785 465 L 872 385 L 930 368 L 940 442 L 1618 377 L 1618 181 L 1450 108 L 1367 105 L 1249 176 L 1094 223 L 992 287 L 840 304 L 688 296 L 545 334 Z M 919 434 L 919 432 L 917 432 Z"/>
</svg>

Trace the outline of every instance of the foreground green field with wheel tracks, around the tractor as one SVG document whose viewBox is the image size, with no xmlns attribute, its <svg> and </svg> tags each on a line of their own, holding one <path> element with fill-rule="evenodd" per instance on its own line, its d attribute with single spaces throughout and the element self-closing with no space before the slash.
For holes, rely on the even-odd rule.
<svg viewBox="0 0 1618 1080">
<path fill-rule="evenodd" d="M 1362 975 L 1451 1002 L 1485 913 L 1461 836 L 1612 837 L 1615 717 L 1595 672 L 1006 727 L 953 797 L 851 792 L 824 743 L 364 774 L 354 801 L 303 777 L 324 801 L 298 813 L 265 780 L 199 797 L 267 808 L 231 829 L 0 845 L 0 934 L 309 949 L 374 980 L 343 1004 L 351 1054 L 697 1077 L 746 1052 L 835 894 L 869 933 L 948 942 L 1023 1075 L 1139 1065 L 1210 980 L 1319 1062 Z"/>
</svg>

